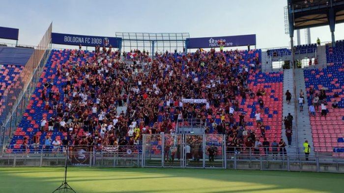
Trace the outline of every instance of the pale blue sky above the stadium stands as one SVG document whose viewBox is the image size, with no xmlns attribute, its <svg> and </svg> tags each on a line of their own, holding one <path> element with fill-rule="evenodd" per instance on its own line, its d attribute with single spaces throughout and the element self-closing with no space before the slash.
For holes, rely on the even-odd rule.
<svg viewBox="0 0 344 193">
<path fill-rule="evenodd" d="M 257 34 L 257 48 L 289 45 L 287 0 L 1 0 L 0 26 L 19 28 L 20 45 L 53 32 L 115 37 L 115 32 L 179 33 L 190 37 Z M 301 30 L 301 44 L 305 43 Z M 296 42 L 296 31 L 294 32 Z M 344 39 L 337 24 L 336 40 Z M 311 28 L 312 43 L 331 41 L 329 26 Z M 0 42 L 15 43 L 0 39 Z M 57 47 L 58 48 L 58 47 Z"/>
</svg>

